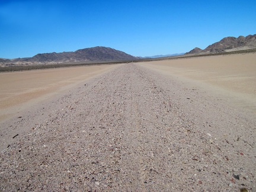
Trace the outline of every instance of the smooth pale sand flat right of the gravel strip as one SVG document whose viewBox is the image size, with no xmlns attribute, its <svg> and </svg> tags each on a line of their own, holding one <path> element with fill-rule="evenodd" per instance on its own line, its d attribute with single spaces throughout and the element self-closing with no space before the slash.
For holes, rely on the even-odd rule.
<svg viewBox="0 0 256 192">
<path fill-rule="evenodd" d="M 140 66 L 180 79 L 256 114 L 256 54 L 143 62 Z"/>
</svg>

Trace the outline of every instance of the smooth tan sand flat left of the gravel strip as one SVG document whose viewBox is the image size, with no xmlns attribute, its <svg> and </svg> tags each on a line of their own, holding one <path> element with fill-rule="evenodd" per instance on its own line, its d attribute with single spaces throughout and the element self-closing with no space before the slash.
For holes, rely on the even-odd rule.
<svg viewBox="0 0 256 192">
<path fill-rule="evenodd" d="M 119 65 L 0 73 L 0 122 Z"/>
</svg>

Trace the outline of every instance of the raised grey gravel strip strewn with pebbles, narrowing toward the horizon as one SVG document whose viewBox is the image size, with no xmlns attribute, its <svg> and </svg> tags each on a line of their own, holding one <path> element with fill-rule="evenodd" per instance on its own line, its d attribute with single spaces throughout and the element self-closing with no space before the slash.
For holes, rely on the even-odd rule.
<svg viewBox="0 0 256 192">
<path fill-rule="evenodd" d="M 1 125 L 0 191 L 256 191 L 254 116 L 138 64 L 40 107 Z"/>
</svg>

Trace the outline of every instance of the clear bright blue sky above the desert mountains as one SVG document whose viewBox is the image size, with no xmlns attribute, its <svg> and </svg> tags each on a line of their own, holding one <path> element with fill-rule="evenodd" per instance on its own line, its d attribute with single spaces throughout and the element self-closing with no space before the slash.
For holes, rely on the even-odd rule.
<svg viewBox="0 0 256 192">
<path fill-rule="evenodd" d="M 256 34 L 256 1 L 0 1 L 0 57 L 105 46 L 133 56 Z"/>
</svg>

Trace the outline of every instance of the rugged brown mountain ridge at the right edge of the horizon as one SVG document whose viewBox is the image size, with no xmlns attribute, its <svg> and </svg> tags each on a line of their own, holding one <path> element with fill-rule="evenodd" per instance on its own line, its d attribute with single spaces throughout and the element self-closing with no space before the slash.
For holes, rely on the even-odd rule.
<svg viewBox="0 0 256 192">
<path fill-rule="evenodd" d="M 196 47 L 192 49 L 190 52 L 185 53 L 188 54 L 206 54 L 206 53 L 222 53 L 222 52 L 232 52 L 236 50 L 247 50 L 247 49 L 255 49 L 256 48 L 256 34 L 249 36 L 239 36 L 236 37 L 225 37 L 222 40 L 213 43 L 206 47 L 206 49 L 200 49 Z"/>
</svg>

